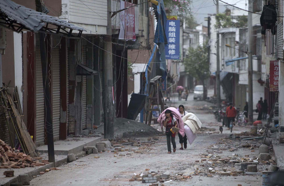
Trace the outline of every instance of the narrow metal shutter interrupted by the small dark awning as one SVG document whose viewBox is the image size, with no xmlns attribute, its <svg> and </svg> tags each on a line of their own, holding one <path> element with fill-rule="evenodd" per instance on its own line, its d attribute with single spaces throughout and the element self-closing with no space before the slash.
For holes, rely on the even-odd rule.
<svg viewBox="0 0 284 186">
<path fill-rule="evenodd" d="M 87 64 L 86 46 L 83 45 L 83 65 Z M 87 78 L 82 76 L 82 128 L 87 128 Z"/>
</svg>

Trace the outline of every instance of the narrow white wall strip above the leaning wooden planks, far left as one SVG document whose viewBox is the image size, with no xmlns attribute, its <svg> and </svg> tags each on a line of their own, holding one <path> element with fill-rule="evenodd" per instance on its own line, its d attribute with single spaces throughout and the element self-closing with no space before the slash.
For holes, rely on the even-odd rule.
<svg viewBox="0 0 284 186">
<path fill-rule="evenodd" d="M 15 86 L 18 88 L 19 99 L 23 110 L 23 58 L 22 58 L 22 33 L 14 32 L 14 61 L 15 61 Z"/>
</svg>

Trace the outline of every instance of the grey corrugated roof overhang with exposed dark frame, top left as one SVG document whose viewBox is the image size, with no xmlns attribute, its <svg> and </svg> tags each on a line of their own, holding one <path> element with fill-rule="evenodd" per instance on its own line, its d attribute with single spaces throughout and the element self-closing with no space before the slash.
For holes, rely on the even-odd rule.
<svg viewBox="0 0 284 186">
<path fill-rule="evenodd" d="M 48 27 L 49 24 L 54 25 L 55 28 Z M 10 0 L 0 1 L 0 25 L 16 32 L 27 29 L 33 32 L 56 33 L 68 37 L 80 37 L 85 31 L 82 27 L 76 27 L 67 21 L 37 12 Z M 73 30 L 78 30 L 79 33 L 72 35 Z"/>
</svg>

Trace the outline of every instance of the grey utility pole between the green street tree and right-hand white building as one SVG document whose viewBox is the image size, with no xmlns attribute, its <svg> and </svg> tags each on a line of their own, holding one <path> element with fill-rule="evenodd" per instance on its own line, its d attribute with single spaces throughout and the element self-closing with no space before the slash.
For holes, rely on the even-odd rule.
<svg viewBox="0 0 284 186">
<path fill-rule="evenodd" d="M 216 0 L 216 21 L 217 15 L 219 14 L 219 1 Z M 219 25 L 219 24 L 217 24 Z M 220 95 L 220 44 L 219 44 L 219 26 L 216 32 L 216 42 L 217 42 L 217 70 L 216 70 L 216 93 L 217 93 L 217 108 L 221 108 L 221 95 Z"/>
</svg>

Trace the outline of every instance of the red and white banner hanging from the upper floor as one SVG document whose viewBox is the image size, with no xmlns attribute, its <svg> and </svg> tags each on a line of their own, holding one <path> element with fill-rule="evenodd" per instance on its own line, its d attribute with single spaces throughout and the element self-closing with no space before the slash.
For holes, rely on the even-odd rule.
<svg viewBox="0 0 284 186">
<path fill-rule="evenodd" d="M 127 1 L 120 1 L 120 10 L 125 7 L 131 7 L 134 4 Z M 120 12 L 120 31 L 118 39 L 136 40 L 135 35 L 135 8 L 131 7 Z"/>
</svg>

